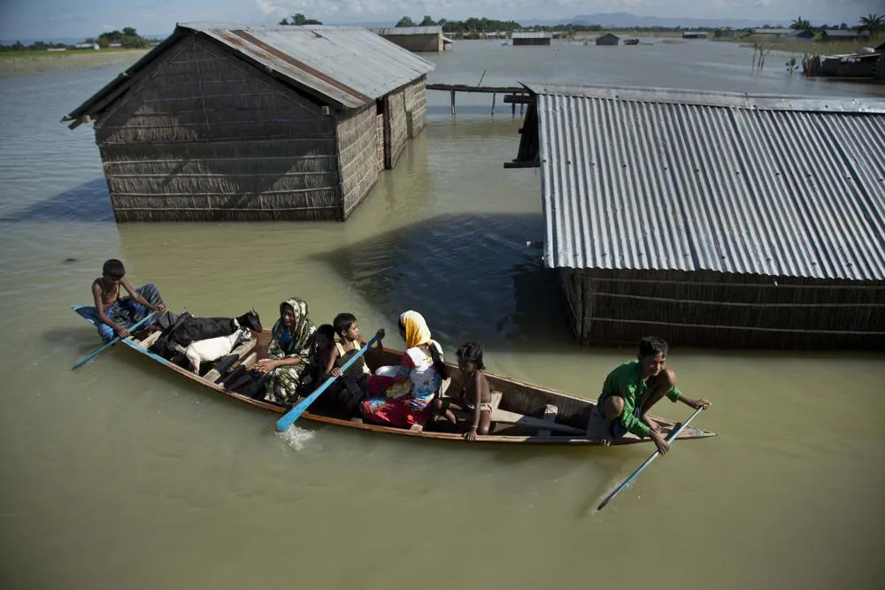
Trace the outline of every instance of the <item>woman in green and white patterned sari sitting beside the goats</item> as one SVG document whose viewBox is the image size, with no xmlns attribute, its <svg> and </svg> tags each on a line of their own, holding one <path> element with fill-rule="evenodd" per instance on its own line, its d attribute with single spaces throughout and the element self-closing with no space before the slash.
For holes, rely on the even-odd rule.
<svg viewBox="0 0 885 590">
<path fill-rule="evenodd" d="M 265 376 L 265 400 L 290 404 L 310 379 L 304 370 L 311 362 L 316 326 L 307 317 L 307 302 L 298 297 L 280 303 L 280 319 L 273 324 L 267 358 L 255 368 Z M 309 374 L 309 372 L 308 372 Z"/>
</svg>

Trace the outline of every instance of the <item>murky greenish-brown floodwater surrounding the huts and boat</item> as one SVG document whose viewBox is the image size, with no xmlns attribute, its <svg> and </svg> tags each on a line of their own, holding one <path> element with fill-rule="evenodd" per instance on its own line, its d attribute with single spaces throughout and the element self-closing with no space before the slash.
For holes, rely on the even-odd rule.
<svg viewBox="0 0 885 590">
<path fill-rule="evenodd" d="M 650 41 L 650 40 L 644 40 Z M 829 96 L 881 87 L 762 73 L 731 43 L 512 48 L 458 42 L 431 81 L 590 82 Z M 416 309 L 449 354 L 595 397 L 632 349 L 573 344 L 543 240 L 539 178 L 503 169 L 519 115 L 431 93 L 427 131 L 345 224 L 116 225 L 91 130 L 58 123 L 124 65 L 0 77 L 0 586 L 4 588 L 881 588 L 881 356 L 685 349 L 671 366 L 720 434 L 651 449 L 495 448 L 275 415 L 96 335 L 105 258 L 173 308 L 266 323 L 291 295 L 396 334 Z M 499 97 L 500 99 L 500 97 Z M 637 334 L 637 337 L 640 334 Z M 389 346 L 402 346 L 396 335 Z M 670 418 L 690 410 L 661 402 Z"/>
</svg>

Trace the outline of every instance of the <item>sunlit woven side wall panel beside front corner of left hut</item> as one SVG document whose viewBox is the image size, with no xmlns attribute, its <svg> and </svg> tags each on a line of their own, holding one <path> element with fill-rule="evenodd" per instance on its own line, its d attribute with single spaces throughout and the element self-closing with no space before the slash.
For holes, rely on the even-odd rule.
<svg viewBox="0 0 885 590">
<path fill-rule="evenodd" d="M 344 218 L 378 181 L 378 140 L 375 105 L 338 123 Z"/>
</svg>

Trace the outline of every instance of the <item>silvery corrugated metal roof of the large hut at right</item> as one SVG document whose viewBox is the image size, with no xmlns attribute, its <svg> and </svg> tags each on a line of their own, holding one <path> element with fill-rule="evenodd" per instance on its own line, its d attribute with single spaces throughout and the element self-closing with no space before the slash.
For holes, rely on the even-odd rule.
<svg viewBox="0 0 885 590">
<path fill-rule="evenodd" d="M 885 280 L 885 101 L 527 88 L 548 266 Z"/>
</svg>

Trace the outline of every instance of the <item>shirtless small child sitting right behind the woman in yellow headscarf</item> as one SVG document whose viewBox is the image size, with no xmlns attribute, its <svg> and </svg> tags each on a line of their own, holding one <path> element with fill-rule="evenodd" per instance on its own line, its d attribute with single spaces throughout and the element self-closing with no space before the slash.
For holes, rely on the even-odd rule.
<svg viewBox="0 0 885 590">
<path fill-rule="evenodd" d="M 475 441 L 477 434 L 488 434 L 492 421 L 492 394 L 489 379 L 483 371 L 482 345 L 479 342 L 465 342 L 455 353 L 458 356 L 458 381 L 452 379 L 450 391 L 457 395 L 445 396 L 436 400 L 435 410 L 443 414 L 452 424 L 458 424 L 457 410 L 469 410 L 473 415 L 470 427 L 464 433 L 467 441 Z"/>
</svg>

